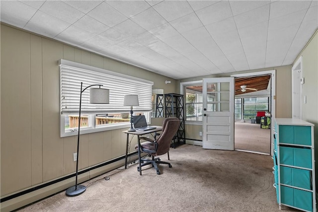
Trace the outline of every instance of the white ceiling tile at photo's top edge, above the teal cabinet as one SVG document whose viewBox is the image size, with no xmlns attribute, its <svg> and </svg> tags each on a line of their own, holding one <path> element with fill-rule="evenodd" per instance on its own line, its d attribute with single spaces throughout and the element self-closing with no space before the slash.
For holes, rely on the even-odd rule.
<svg viewBox="0 0 318 212">
<path fill-rule="evenodd" d="M 270 4 L 269 19 L 277 18 L 283 15 L 297 12 L 299 10 L 307 9 L 311 0 L 278 0 Z"/>
</svg>

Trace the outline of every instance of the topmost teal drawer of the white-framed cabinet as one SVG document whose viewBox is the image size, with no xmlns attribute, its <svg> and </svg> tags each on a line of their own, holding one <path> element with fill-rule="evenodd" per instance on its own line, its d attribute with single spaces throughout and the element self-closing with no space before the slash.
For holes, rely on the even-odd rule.
<svg viewBox="0 0 318 212">
<path fill-rule="evenodd" d="M 279 142 L 312 145 L 312 128 L 310 126 L 279 126 Z"/>
</svg>

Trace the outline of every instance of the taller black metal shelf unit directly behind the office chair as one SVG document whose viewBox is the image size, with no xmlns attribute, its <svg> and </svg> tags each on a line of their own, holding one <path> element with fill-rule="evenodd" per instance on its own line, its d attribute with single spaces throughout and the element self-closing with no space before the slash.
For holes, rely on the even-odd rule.
<svg viewBox="0 0 318 212">
<path fill-rule="evenodd" d="M 185 143 L 185 128 L 184 128 L 184 107 L 183 95 L 176 93 L 164 94 L 165 118 L 176 117 L 180 120 L 180 127 L 174 137 L 172 146 Z M 175 141 L 177 140 L 177 141 Z"/>
</svg>

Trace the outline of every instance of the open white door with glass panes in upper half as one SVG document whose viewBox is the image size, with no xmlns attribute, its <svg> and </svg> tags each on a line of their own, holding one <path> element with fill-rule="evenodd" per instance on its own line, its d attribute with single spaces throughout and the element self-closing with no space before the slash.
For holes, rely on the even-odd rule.
<svg viewBox="0 0 318 212">
<path fill-rule="evenodd" d="M 234 77 L 203 78 L 202 147 L 234 150 Z"/>
</svg>

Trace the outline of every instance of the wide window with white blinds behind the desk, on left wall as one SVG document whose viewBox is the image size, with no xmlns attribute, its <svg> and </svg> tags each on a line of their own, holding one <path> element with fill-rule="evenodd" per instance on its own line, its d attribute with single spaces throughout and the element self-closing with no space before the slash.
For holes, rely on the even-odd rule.
<svg viewBox="0 0 318 212">
<path fill-rule="evenodd" d="M 143 114 L 148 122 L 152 111 L 152 81 L 113 71 L 60 60 L 61 137 L 76 135 L 79 125 L 80 82 L 83 87 L 102 84 L 109 89 L 109 104 L 89 104 L 89 89 L 82 92 L 81 133 L 119 129 L 130 123 L 130 108 L 123 106 L 124 96 L 137 94 L 139 106 L 134 114 Z M 98 87 L 98 86 L 96 86 Z"/>
</svg>

